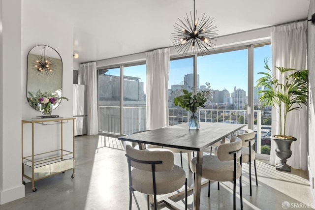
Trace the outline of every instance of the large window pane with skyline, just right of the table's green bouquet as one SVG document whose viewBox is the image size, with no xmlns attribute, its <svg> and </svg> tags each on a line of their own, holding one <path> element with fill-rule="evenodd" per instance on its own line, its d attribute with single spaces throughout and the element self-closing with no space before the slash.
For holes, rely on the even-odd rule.
<svg viewBox="0 0 315 210">
<path fill-rule="evenodd" d="M 247 123 L 248 50 L 240 49 L 197 57 L 200 87 L 210 85 L 213 97 L 201 111 L 211 122 Z M 202 118 L 204 116 L 204 118 Z"/>
</svg>

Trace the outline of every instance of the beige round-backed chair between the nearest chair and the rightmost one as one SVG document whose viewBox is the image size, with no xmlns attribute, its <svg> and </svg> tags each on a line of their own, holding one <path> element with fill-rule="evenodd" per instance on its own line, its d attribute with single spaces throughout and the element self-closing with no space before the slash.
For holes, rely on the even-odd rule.
<svg viewBox="0 0 315 210">
<path fill-rule="evenodd" d="M 243 209 L 242 196 L 242 140 L 232 137 L 230 143 L 221 144 L 216 155 L 204 155 L 202 160 L 202 178 L 209 180 L 208 197 L 210 197 L 211 181 L 233 181 L 233 209 L 236 209 L 236 180 L 240 180 L 240 202 Z M 196 172 L 196 157 L 190 162 L 190 169 Z"/>
</svg>

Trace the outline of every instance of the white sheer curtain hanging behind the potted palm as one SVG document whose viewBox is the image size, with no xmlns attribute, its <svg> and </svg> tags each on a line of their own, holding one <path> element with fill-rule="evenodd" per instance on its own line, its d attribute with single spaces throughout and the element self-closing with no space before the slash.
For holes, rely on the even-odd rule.
<svg viewBox="0 0 315 210">
<path fill-rule="evenodd" d="M 307 53 L 307 22 L 297 22 L 284 26 L 273 27 L 271 31 L 272 65 L 298 70 L 306 69 Z M 275 73 L 273 68 L 273 73 Z M 283 78 L 279 78 L 283 80 Z M 300 111 L 287 114 L 286 135 L 294 136 L 297 141 L 291 145 L 292 156 L 287 164 L 296 169 L 307 170 L 307 107 L 302 105 Z M 272 110 L 272 134 L 279 134 L 279 115 Z M 278 164 L 279 158 L 271 142 L 270 164 Z"/>
</svg>

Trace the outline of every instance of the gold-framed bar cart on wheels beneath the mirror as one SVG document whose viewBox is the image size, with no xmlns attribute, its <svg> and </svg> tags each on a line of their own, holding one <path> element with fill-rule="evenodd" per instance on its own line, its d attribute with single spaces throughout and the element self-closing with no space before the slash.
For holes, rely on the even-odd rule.
<svg viewBox="0 0 315 210">
<path fill-rule="evenodd" d="M 63 150 L 63 123 L 73 121 L 73 150 Z M 22 120 L 22 180 L 26 178 L 32 181 L 32 191 L 37 188 L 34 181 L 44 179 L 67 170 L 73 170 L 71 178 L 74 178 L 74 118 L 32 119 Z M 61 149 L 43 153 L 34 153 L 34 123 L 48 125 L 50 123 L 61 124 Z M 23 156 L 23 124 L 32 123 L 32 155 Z M 25 184 L 25 181 L 22 181 Z"/>
</svg>

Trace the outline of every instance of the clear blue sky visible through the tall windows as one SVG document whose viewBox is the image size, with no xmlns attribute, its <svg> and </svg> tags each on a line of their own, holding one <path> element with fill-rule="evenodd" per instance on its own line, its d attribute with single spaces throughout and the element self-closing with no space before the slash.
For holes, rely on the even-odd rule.
<svg viewBox="0 0 315 210">
<path fill-rule="evenodd" d="M 271 67 L 271 46 L 265 45 L 254 48 L 254 85 L 260 77 L 258 72 L 266 71 L 264 69 L 264 60 L 269 59 L 269 67 Z M 211 89 L 226 89 L 230 93 L 234 87 L 243 89 L 246 92 L 248 87 L 248 55 L 247 49 L 230 51 L 225 53 L 199 56 L 197 58 L 197 72 L 199 74 L 199 85 L 210 83 Z M 180 85 L 184 81 L 184 76 L 193 71 L 192 58 L 171 60 L 169 70 L 168 88 L 171 85 Z M 120 69 L 110 69 L 107 74 L 119 75 Z M 146 65 L 136 65 L 124 67 L 124 74 L 141 78 L 146 86 Z"/>
</svg>

